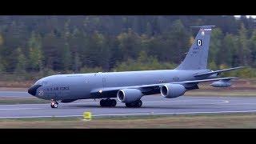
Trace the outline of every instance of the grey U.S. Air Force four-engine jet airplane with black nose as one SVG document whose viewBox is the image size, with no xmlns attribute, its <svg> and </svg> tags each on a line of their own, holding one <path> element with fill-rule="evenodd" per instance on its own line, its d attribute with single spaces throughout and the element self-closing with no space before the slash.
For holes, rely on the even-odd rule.
<svg viewBox="0 0 256 144">
<path fill-rule="evenodd" d="M 163 98 L 177 98 L 188 90 L 199 89 L 200 82 L 213 82 L 210 86 L 227 87 L 233 85 L 231 79 L 217 78 L 224 70 L 207 69 L 210 34 L 214 26 L 200 28 L 183 62 L 174 70 L 141 70 L 122 72 L 98 72 L 89 74 L 55 74 L 39 79 L 28 89 L 37 98 L 51 100 L 52 108 L 58 102 L 74 102 L 78 99 L 100 100 L 102 107 L 114 107 L 119 102 L 126 107 L 141 107 L 142 96 L 161 94 Z M 112 98 L 112 99 L 111 99 Z"/>
</svg>

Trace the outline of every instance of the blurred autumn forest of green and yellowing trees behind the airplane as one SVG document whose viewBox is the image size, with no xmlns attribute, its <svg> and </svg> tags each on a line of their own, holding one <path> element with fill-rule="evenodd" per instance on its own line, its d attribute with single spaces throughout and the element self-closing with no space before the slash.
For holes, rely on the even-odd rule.
<svg viewBox="0 0 256 144">
<path fill-rule="evenodd" d="M 203 25 L 216 26 L 209 69 L 256 77 L 256 21 L 243 15 L 20 15 L 0 16 L 0 80 L 173 69 Z"/>
</svg>

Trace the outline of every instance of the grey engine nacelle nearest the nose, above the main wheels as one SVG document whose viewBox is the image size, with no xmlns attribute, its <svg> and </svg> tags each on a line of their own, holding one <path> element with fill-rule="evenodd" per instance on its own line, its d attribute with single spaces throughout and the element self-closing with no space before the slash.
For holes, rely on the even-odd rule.
<svg viewBox="0 0 256 144">
<path fill-rule="evenodd" d="M 123 89 L 123 90 L 118 90 L 117 96 L 120 102 L 130 103 L 130 102 L 135 102 L 140 98 L 142 98 L 143 94 L 141 90 Z"/>
</svg>

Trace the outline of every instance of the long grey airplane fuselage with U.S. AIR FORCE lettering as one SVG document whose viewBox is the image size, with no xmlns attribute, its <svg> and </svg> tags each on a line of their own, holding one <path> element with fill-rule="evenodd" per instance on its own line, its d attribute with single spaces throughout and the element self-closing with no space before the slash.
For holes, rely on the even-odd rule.
<svg viewBox="0 0 256 144">
<path fill-rule="evenodd" d="M 94 96 L 90 94 L 90 91 L 93 89 L 190 81 L 195 80 L 194 74 L 208 71 L 210 70 L 142 70 L 90 74 L 57 74 L 35 82 L 34 85 L 42 86 L 38 87 L 34 96 L 49 100 L 93 98 Z M 108 97 L 115 98 L 116 95 Z M 101 97 L 98 96 L 98 98 Z"/>
</svg>

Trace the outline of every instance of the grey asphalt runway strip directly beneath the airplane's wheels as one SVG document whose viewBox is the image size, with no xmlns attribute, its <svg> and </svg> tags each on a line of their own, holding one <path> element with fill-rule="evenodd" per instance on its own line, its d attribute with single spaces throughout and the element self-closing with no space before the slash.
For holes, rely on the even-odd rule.
<svg viewBox="0 0 256 144">
<path fill-rule="evenodd" d="M 161 95 L 142 97 L 141 108 L 101 107 L 99 99 L 61 103 L 57 109 L 49 104 L 0 105 L 0 118 L 76 117 L 91 112 L 94 117 L 128 115 L 234 114 L 255 113 L 256 98 L 191 97 L 162 98 Z"/>
</svg>

